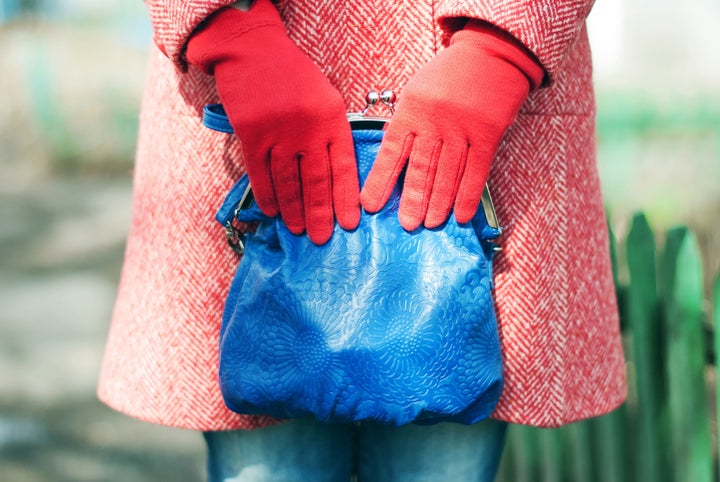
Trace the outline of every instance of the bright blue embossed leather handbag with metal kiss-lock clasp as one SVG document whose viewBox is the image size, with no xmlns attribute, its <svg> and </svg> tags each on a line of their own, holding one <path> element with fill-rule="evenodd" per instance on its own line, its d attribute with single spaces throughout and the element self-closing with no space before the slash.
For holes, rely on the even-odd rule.
<svg viewBox="0 0 720 482">
<path fill-rule="evenodd" d="M 220 106 L 206 108 L 204 123 L 232 132 Z M 354 124 L 362 183 L 382 122 Z M 407 232 L 399 199 L 396 188 L 380 212 L 362 213 L 357 229 L 336 225 L 316 246 L 265 216 L 247 177 L 231 190 L 217 214 L 244 247 L 220 336 L 220 387 L 231 410 L 392 425 L 490 415 L 503 384 L 492 299 L 500 230 L 479 209 L 467 224 L 451 215 L 439 228 Z M 257 229 L 235 233 L 237 222 Z"/>
</svg>

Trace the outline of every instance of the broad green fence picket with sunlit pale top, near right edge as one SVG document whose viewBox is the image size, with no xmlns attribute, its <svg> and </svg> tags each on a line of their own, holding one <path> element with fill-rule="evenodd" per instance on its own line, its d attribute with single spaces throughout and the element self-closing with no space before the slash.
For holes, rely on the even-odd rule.
<svg viewBox="0 0 720 482">
<path fill-rule="evenodd" d="M 711 482 L 700 249 L 687 228 L 668 232 L 663 267 L 667 380 L 674 480 Z"/>
</svg>

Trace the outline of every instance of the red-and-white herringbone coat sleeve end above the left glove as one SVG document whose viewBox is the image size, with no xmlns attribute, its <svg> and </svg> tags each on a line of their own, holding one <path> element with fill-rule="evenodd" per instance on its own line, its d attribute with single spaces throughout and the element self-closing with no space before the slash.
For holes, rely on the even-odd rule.
<svg viewBox="0 0 720 482">
<path fill-rule="evenodd" d="M 185 46 L 193 31 L 210 14 L 237 0 L 145 0 L 153 41 L 175 65 L 185 71 Z M 282 3 L 282 0 L 273 0 Z"/>
</svg>

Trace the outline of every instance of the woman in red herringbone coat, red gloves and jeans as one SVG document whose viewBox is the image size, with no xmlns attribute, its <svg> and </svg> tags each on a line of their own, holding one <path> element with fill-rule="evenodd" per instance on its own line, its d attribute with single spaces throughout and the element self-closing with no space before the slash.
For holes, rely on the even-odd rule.
<svg viewBox="0 0 720 482">
<path fill-rule="evenodd" d="M 624 359 L 595 166 L 585 28 L 592 1 L 146 3 L 156 48 L 100 380 L 104 402 L 206 432 L 211 480 L 283 480 L 281 473 L 320 480 L 295 463 L 310 459 L 338 480 L 330 465 L 349 471 L 352 454 L 367 480 L 408 470 L 416 477 L 403 480 L 438 480 L 451 475 L 433 468 L 468 464 L 469 472 L 452 476 L 492 480 L 507 422 L 555 427 L 622 403 Z M 365 92 L 384 88 L 400 101 L 360 192 L 342 120 L 363 107 Z M 218 100 L 241 142 L 201 127 L 202 107 Z M 361 203 L 380 209 L 404 168 L 407 229 L 437 226 L 450 210 L 467 219 L 489 172 L 504 227 L 495 297 L 505 388 L 494 420 L 262 428 L 277 421 L 228 411 L 217 344 L 237 259 L 213 215 L 229 187 L 247 169 L 259 206 L 320 244 L 334 220 L 354 227 Z"/>
</svg>

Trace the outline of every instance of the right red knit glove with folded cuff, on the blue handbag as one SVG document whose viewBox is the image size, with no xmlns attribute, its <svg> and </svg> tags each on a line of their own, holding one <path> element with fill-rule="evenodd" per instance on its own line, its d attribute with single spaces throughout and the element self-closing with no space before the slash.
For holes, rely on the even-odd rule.
<svg viewBox="0 0 720 482">
<path fill-rule="evenodd" d="M 382 209 L 407 164 L 405 229 L 437 227 L 453 205 L 459 223 L 470 221 L 505 131 L 542 78 L 516 41 L 469 21 L 403 89 L 360 195 L 365 209 Z"/>
</svg>

